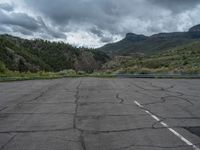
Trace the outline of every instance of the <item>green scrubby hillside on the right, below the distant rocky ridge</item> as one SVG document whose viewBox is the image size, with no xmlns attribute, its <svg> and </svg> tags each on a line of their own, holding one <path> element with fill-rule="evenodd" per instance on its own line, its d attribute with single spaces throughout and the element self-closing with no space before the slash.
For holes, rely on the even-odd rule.
<svg viewBox="0 0 200 150">
<path fill-rule="evenodd" d="M 200 41 L 149 56 L 116 56 L 104 69 L 118 73 L 200 73 Z"/>
</svg>

